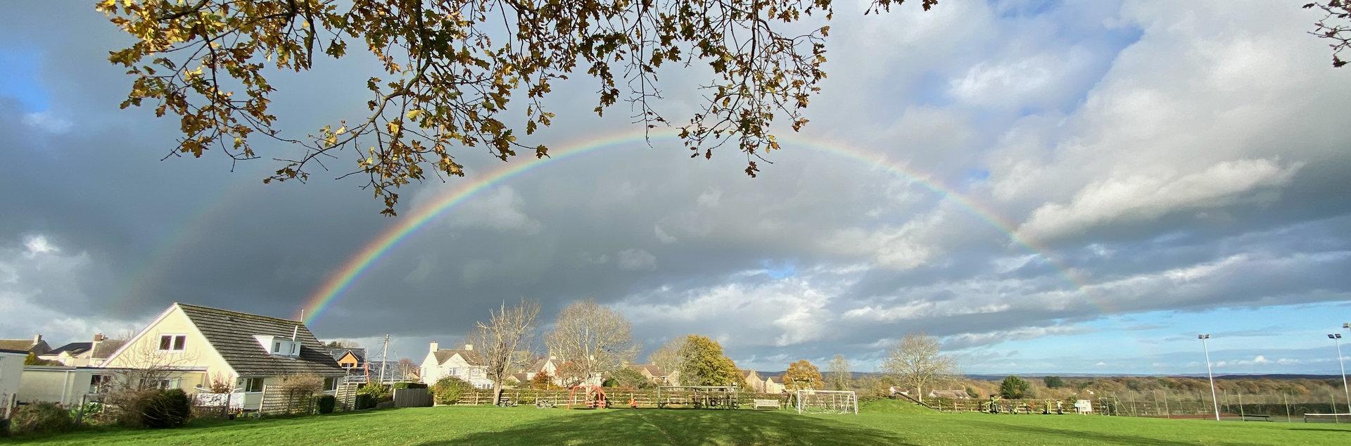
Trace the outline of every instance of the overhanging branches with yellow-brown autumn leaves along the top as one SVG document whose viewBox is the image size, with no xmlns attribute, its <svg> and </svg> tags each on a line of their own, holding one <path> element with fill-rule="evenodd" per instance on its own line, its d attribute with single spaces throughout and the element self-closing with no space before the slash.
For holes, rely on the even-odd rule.
<svg viewBox="0 0 1351 446">
<path fill-rule="evenodd" d="M 873 0 L 866 12 L 902 1 Z M 347 150 L 355 164 L 343 176 L 365 176 L 388 215 L 400 187 L 463 176 L 457 146 L 503 161 L 517 151 L 547 157 L 547 145 L 523 138 L 551 124 L 543 99 L 558 80 L 593 77 L 596 114 L 626 100 L 650 130 L 669 126 L 655 108 L 658 70 L 696 62 L 712 78 L 680 137 L 692 157 L 732 143 L 754 177 L 755 159 L 780 149 L 770 124 L 807 124 L 802 109 L 825 78 L 823 22 L 834 16 L 832 0 L 100 0 L 96 9 L 132 38 L 108 57 L 131 76 L 122 107 L 149 101 L 157 116 L 178 116 L 173 154 L 262 158 L 259 135 L 297 147 L 269 155 L 281 161 L 270 182 L 305 181 L 315 164 Z M 824 20 L 800 23 L 813 16 Z M 347 55 L 349 45 L 367 49 L 381 68 L 363 85 L 369 112 L 307 137 L 282 132 L 273 72 L 308 72 L 317 58 Z M 520 95 L 517 126 L 503 115 Z"/>
</svg>

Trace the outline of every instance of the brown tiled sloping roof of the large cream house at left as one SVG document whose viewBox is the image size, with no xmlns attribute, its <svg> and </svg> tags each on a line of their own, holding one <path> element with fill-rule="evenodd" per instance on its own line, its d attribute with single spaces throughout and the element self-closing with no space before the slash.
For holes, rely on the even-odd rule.
<svg viewBox="0 0 1351 446">
<path fill-rule="evenodd" d="M 220 357 L 240 376 L 277 376 L 292 373 L 316 373 L 322 376 L 347 374 L 338 361 L 328 355 L 319 339 L 299 320 L 250 315 L 246 312 L 178 304 L 207 342 L 220 353 Z M 290 339 L 292 328 L 300 341 L 299 357 L 272 355 L 254 335 L 272 335 Z"/>
</svg>

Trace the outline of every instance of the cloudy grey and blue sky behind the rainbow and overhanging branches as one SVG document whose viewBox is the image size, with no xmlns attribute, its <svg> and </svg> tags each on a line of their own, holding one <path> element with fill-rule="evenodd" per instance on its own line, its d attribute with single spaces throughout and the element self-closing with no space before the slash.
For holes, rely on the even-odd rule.
<svg viewBox="0 0 1351 446">
<path fill-rule="evenodd" d="M 1336 373 L 1351 322 L 1351 69 L 1279 1 L 836 5 L 811 123 L 758 178 L 730 150 L 621 139 L 493 181 L 362 270 L 322 339 L 420 360 L 489 308 L 594 299 L 646 351 L 697 332 L 739 366 L 938 337 L 967 373 Z M 176 122 L 119 109 L 128 45 L 88 1 L 0 15 L 0 337 L 139 330 L 174 301 L 292 318 L 381 234 L 465 178 L 263 185 L 265 159 L 165 157 Z M 281 126 L 363 111 L 362 51 L 278 74 Z M 666 73 L 673 120 L 707 70 Z M 345 92 L 351 92 L 346 95 Z M 558 150 L 631 135 L 585 76 L 555 85 Z M 1346 332 L 1351 335 L 1351 332 Z M 646 351 L 643 357 L 646 357 Z M 377 353 L 378 354 L 378 353 Z M 1351 360 L 1351 346 L 1347 349 Z"/>
</svg>

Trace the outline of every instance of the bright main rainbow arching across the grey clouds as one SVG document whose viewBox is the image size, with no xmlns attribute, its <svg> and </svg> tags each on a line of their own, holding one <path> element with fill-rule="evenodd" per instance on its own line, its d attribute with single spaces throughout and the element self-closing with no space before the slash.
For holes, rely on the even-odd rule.
<svg viewBox="0 0 1351 446">
<path fill-rule="evenodd" d="M 367 242 L 359 251 L 357 251 L 357 254 L 347 258 L 347 261 L 343 262 L 342 266 L 338 268 L 338 270 L 330 274 L 330 277 L 323 282 L 323 285 L 317 291 L 315 291 L 315 293 L 309 296 L 309 299 L 301 307 L 300 312 L 304 315 L 303 318 L 304 322 L 313 323 L 315 320 L 317 320 L 319 316 L 323 315 L 324 309 L 332 305 L 332 303 L 338 300 L 338 297 L 340 297 L 347 291 L 347 288 L 351 287 L 353 282 L 361 278 L 362 274 L 365 274 L 365 272 L 369 270 L 372 265 L 384 258 L 394 246 L 397 246 L 401 241 L 404 241 L 405 238 L 416 232 L 419 228 L 426 226 L 428 222 L 436 219 L 450 208 L 454 208 L 457 204 L 463 203 L 476 193 L 488 189 L 493 185 L 497 185 L 500 182 L 508 181 L 535 168 L 551 164 L 554 161 L 577 157 L 605 147 L 615 147 L 624 145 L 630 146 L 646 145 L 647 137 L 648 135 L 644 131 L 638 130 L 631 132 L 605 135 L 600 138 L 592 138 L 567 143 L 563 145 L 561 149 L 551 149 L 549 158 L 539 158 L 527 162 L 509 162 L 504 168 L 480 176 L 473 182 L 469 182 L 458 189 L 440 195 L 428 203 L 417 205 L 416 208 L 409 211 L 407 216 L 401 216 L 399 223 L 385 228 L 384 232 L 380 232 L 374 239 Z M 667 135 L 654 134 L 653 137 L 655 138 Z M 1046 247 L 1038 246 L 1031 241 L 1017 235 L 1015 223 L 1001 218 L 998 212 L 993 211 L 990 207 L 967 197 L 966 195 L 944 185 L 942 181 L 928 174 L 916 172 L 909 166 L 905 166 L 904 164 L 890 161 L 885 155 L 878 155 L 852 149 L 850 145 L 808 141 L 801 138 L 785 138 L 782 143 L 788 146 L 794 146 L 794 147 L 802 146 L 807 149 L 813 149 L 816 151 L 842 155 L 844 158 L 871 165 L 874 169 L 884 169 L 886 172 L 912 180 L 916 184 L 921 185 L 923 188 L 934 193 L 938 193 L 944 200 L 950 200 L 958 204 L 962 209 L 979 218 L 981 220 L 986 222 L 994 228 L 998 228 L 1000 231 L 1002 231 L 1009 237 L 1009 241 L 1013 245 L 1021 246 L 1023 249 L 1031 251 L 1032 254 L 1044 258 L 1047 262 L 1055 266 L 1075 289 L 1082 289 L 1085 287 L 1084 280 L 1081 280 L 1070 268 L 1066 268 L 1066 265 L 1063 265 L 1063 262 L 1059 261 L 1056 257 L 1048 254 L 1050 251 Z"/>
</svg>

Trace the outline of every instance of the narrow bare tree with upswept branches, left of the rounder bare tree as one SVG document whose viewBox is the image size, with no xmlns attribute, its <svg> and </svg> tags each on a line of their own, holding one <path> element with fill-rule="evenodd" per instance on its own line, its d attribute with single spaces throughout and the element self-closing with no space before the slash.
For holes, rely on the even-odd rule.
<svg viewBox="0 0 1351 446">
<path fill-rule="evenodd" d="M 493 401 L 501 397 L 503 380 L 530 361 L 536 316 L 539 301 L 521 299 L 512 307 L 503 303 L 497 311 L 488 312 L 486 323 L 477 324 L 471 339 L 474 351 L 488 368 L 488 377 L 493 380 Z"/>
</svg>

